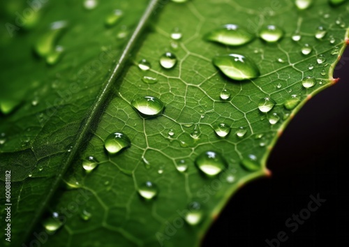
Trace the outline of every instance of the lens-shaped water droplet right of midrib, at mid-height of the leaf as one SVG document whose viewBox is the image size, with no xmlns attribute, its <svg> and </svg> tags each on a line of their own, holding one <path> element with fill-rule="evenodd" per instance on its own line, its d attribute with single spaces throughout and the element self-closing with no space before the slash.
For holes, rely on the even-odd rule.
<svg viewBox="0 0 349 247">
<path fill-rule="evenodd" d="M 143 117 L 156 117 L 160 115 L 165 108 L 161 100 L 151 96 L 135 98 L 131 101 L 131 105 Z"/>
</svg>

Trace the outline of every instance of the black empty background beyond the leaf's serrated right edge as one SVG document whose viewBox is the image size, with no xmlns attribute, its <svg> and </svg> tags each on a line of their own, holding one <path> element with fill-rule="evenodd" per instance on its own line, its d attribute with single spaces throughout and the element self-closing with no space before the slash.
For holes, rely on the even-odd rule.
<svg viewBox="0 0 349 247">
<path fill-rule="evenodd" d="M 213 224 L 203 247 L 349 247 L 349 49 L 334 70 L 341 80 L 312 98 L 292 119 L 269 157 L 272 177 L 239 190 Z M 310 195 L 327 201 L 294 233 L 285 221 L 307 208 Z M 278 244 L 274 243 L 274 247 Z"/>
</svg>

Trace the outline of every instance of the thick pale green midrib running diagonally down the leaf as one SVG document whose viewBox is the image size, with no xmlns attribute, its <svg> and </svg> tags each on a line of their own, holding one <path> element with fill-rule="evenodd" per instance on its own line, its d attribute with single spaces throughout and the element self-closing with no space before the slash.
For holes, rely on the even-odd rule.
<svg viewBox="0 0 349 247">
<path fill-rule="evenodd" d="M 38 209 L 34 214 L 31 224 L 29 225 L 29 227 L 27 227 L 27 230 L 24 232 L 24 241 L 27 241 L 27 239 L 29 239 L 29 235 L 31 234 L 34 227 L 38 224 L 38 221 L 40 220 L 41 216 L 46 210 L 47 204 L 50 202 L 55 191 L 59 187 L 62 177 L 68 170 L 70 164 L 73 163 L 73 160 L 75 160 L 77 151 L 79 151 L 82 148 L 82 145 L 87 142 L 86 137 L 89 134 L 90 127 L 94 123 L 99 121 L 101 117 L 101 111 L 103 110 L 103 107 L 107 102 L 107 99 L 111 95 L 114 82 L 120 77 L 122 73 L 124 73 L 123 68 L 126 66 L 128 56 L 132 52 L 135 43 L 138 42 L 138 38 L 140 38 L 140 36 L 142 35 L 142 31 L 146 27 L 151 15 L 156 14 L 156 6 L 160 1 L 161 0 L 151 0 L 149 2 L 147 8 L 144 10 L 142 17 L 140 18 L 140 21 L 138 22 L 131 37 L 128 39 L 128 42 L 122 50 L 119 60 L 113 66 L 114 69 L 112 70 L 110 75 L 107 77 L 107 80 L 101 87 L 101 92 L 98 93 L 98 96 L 96 97 L 96 100 L 94 101 L 93 105 L 91 105 L 91 107 L 87 111 L 86 117 L 82 119 L 77 137 L 75 139 L 75 145 L 71 150 L 68 159 L 65 163 L 61 165 L 60 170 L 57 172 L 57 177 L 55 177 L 54 181 L 52 182 L 52 186 L 50 188 L 49 193 L 45 195 L 45 197 L 43 198 L 43 202 L 38 205 Z"/>
</svg>

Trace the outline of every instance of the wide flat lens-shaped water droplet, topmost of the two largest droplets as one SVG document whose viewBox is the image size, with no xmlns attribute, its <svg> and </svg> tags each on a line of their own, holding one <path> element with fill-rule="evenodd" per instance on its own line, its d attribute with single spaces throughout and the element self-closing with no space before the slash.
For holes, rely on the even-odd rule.
<svg viewBox="0 0 349 247">
<path fill-rule="evenodd" d="M 214 31 L 207 33 L 206 40 L 214 41 L 224 45 L 244 45 L 251 42 L 255 36 L 246 29 L 236 24 L 226 24 Z"/>
</svg>

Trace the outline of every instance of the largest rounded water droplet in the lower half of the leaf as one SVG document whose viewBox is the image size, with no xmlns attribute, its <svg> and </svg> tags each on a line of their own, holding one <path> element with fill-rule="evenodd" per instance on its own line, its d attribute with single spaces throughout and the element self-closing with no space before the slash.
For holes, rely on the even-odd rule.
<svg viewBox="0 0 349 247">
<path fill-rule="evenodd" d="M 227 167 L 223 156 L 214 151 L 206 151 L 200 154 L 195 159 L 195 165 L 207 176 L 215 176 Z"/>
</svg>

